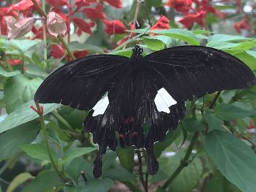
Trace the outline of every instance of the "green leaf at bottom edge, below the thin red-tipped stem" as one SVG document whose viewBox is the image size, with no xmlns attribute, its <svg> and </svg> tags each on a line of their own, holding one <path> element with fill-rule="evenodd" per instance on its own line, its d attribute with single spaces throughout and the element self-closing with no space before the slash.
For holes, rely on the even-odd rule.
<svg viewBox="0 0 256 192">
<path fill-rule="evenodd" d="M 59 176 L 54 171 L 40 172 L 37 177 L 23 188 L 22 192 L 45 192 L 58 185 L 63 185 Z"/>
</svg>

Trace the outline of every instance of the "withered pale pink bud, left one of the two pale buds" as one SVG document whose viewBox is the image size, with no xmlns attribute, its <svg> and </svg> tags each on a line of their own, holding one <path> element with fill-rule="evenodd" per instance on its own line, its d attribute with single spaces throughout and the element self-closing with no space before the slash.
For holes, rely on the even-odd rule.
<svg viewBox="0 0 256 192">
<path fill-rule="evenodd" d="M 31 28 L 34 26 L 34 23 L 36 23 L 37 19 L 35 18 L 23 18 L 22 20 L 19 20 L 18 23 L 13 22 L 13 20 L 10 20 L 8 24 L 8 38 L 14 39 L 18 37 L 23 37 L 25 34 L 27 34 L 29 31 L 31 31 Z"/>
</svg>

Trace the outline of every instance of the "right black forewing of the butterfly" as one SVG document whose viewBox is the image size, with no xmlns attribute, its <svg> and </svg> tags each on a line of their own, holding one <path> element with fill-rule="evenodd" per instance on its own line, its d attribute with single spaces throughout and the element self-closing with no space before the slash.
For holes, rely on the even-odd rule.
<svg viewBox="0 0 256 192">
<path fill-rule="evenodd" d="M 171 47 L 145 59 L 151 68 L 148 70 L 154 71 L 163 87 L 178 101 L 255 83 L 255 75 L 242 61 L 211 47 Z"/>
</svg>

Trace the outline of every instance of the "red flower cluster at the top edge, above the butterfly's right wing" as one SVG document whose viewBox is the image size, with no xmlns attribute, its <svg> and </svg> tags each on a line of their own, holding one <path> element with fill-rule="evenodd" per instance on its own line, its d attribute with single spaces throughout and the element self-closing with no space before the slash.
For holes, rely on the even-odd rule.
<svg viewBox="0 0 256 192">
<path fill-rule="evenodd" d="M 193 2 L 196 5 L 195 9 L 192 8 Z M 211 12 L 218 18 L 225 18 L 225 13 L 220 12 L 218 9 L 211 6 L 208 0 L 168 0 L 165 5 L 167 7 L 173 7 L 177 12 L 182 12 L 184 14 L 184 18 L 181 18 L 179 22 L 187 28 L 190 28 L 193 23 L 198 23 L 200 26 L 204 26 L 206 13 L 208 12 Z"/>
</svg>

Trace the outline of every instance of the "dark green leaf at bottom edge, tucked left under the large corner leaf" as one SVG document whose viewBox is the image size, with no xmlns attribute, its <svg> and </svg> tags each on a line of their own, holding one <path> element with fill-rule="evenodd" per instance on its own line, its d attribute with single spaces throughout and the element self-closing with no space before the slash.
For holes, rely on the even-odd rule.
<svg viewBox="0 0 256 192">
<path fill-rule="evenodd" d="M 235 185 L 230 183 L 222 174 L 216 172 L 214 177 L 206 185 L 206 188 L 203 192 L 240 192 Z"/>
</svg>

